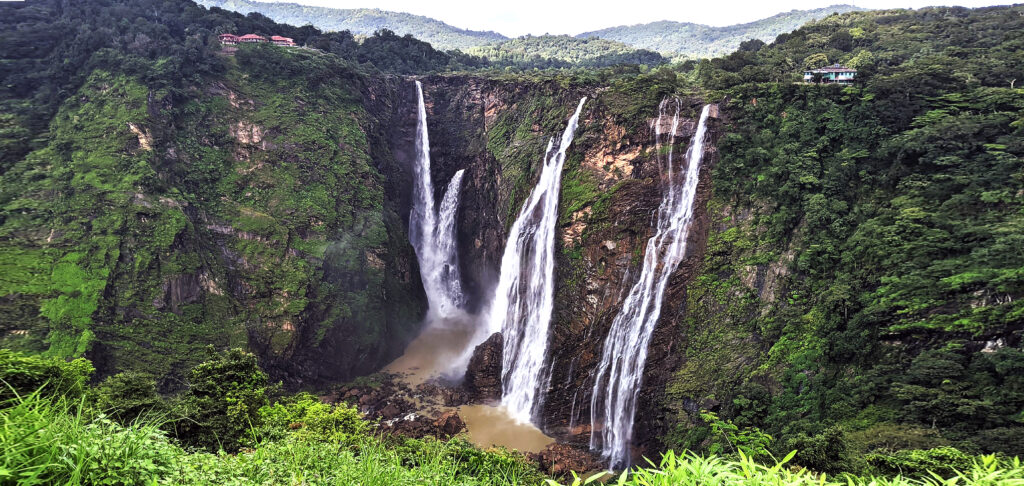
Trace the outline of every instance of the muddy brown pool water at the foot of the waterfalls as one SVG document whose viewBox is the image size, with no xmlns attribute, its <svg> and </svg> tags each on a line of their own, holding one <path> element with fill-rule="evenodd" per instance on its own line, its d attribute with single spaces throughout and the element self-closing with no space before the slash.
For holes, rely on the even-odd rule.
<svg viewBox="0 0 1024 486">
<path fill-rule="evenodd" d="M 434 378 L 461 379 L 465 369 L 454 369 L 453 363 L 463 355 L 475 326 L 470 315 L 432 322 L 384 370 L 401 374 L 413 387 Z M 501 406 L 463 405 L 458 411 L 466 423 L 469 441 L 480 447 L 500 445 L 540 452 L 554 442 L 532 424 L 517 423 Z"/>
</svg>

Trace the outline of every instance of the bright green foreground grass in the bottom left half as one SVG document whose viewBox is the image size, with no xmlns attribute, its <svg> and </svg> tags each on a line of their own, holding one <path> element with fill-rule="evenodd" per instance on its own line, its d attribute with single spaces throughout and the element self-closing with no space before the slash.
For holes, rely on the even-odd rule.
<svg viewBox="0 0 1024 486">
<path fill-rule="evenodd" d="M 189 451 L 159 421 L 119 425 L 89 400 L 16 396 L 0 404 L 0 485 L 514 485 L 540 484 L 514 453 L 441 442 L 302 434 L 237 454 Z"/>
</svg>

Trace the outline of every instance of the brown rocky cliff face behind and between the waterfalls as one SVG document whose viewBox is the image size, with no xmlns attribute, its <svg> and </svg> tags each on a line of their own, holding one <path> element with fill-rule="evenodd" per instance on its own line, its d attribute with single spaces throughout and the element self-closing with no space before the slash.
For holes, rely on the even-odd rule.
<svg viewBox="0 0 1024 486">
<path fill-rule="evenodd" d="M 551 379 L 542 424 L 550 434 L 585 444 L 590 437 L 592 374 L 611 321 L 639 274 L 662 200 L 651 130 L 657 99 L 632 99 L 627 114 L 616 104 L 620 93 L 607 89 L 462 77 L 434 77 L 423 83 L 434 180 L 445 181 L 455 171 L 467 170 L 459 245 L 472 310 L 490 298 L 507 228 L 536 181 L 547 138 L 564 128 L 579 97 L 590 98 L 563 173 Z M 412 83 L 404 91 L 412 93 Z M 693 135 L 701 105 L 693 99 L 684 107 L 685 119 L 676 134 L 680 152 Z M 710 200 L 715 141 L 722 132 L 717 108 L 714 112 L 687 257 L 670 281 L 646 365 L 637 419 L 643 448 L 659 445 L 657 437 L 667 427 L 662 397 L 679 365 L 676 322 L 685 313 L 686 285 L 702 260 L 709 225 L 702 209 Z M 435 185 L 442 190 L 443 184 Z"/>
</svg>

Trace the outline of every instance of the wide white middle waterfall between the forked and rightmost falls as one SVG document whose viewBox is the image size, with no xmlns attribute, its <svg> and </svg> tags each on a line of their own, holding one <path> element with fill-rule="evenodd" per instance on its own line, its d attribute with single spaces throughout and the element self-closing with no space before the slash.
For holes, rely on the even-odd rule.
<svg viewBox="0 0 1024 486">
<path fill-rule="evenodd" d="M 577 105 L 557 147 L 548 141 L 541 178 L 509 230 L 501 277 L 487 318 L 488 333 L 502 332 L 502 404 L 519 422 L 530 422 L 544 388 L 548 326 L 555 294 L 555 226 L 565 150 L 572 143 Z"/>
</svg>

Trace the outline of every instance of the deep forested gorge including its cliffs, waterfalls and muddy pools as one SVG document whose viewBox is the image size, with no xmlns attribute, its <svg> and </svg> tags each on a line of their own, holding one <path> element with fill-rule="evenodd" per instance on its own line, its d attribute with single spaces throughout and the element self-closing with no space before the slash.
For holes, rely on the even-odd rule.
<svg viewBox="0 0 1024 486">
<path fill-rule="evenodd" d="M 349 410 L 475 465 L 505 456 L 461 449 L 461 422 L 527 437 L 555 477 L 1024 451 L 1020 6 L 550 71 L 190 2 L 0 11 L 25 34 L 0 74 L 0 368 L 87 359 L 82 387 L 152 389 L 121 402 L 180 411 L 161 433 L 211 461 L 265 430 L 362 440 L 309 439 Z M 835 62 L 854 85 L 802 82 Z M 377 450 L 346 444 L 317 453 Z"/>
</svg>

